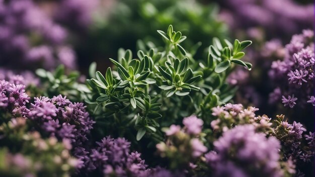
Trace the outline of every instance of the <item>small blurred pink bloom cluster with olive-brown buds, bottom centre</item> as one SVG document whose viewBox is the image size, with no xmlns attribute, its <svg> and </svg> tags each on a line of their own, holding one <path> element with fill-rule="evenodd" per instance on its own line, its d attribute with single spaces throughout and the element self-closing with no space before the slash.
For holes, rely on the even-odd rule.
<svg viewBox="0 0 315 177">
<path fill-rule="evenodd" d="M 167 140 L 156 144 L 160 155 L 169 160 L 169 166 L 173 170 L 193 169 L 196 166 L 192 162 L 207 151 L 200 140 L 203 121 L 193 115 L 184 118 L 183 124 L 183 128 L 171 125 L 165 129 Z"/>
</svg>

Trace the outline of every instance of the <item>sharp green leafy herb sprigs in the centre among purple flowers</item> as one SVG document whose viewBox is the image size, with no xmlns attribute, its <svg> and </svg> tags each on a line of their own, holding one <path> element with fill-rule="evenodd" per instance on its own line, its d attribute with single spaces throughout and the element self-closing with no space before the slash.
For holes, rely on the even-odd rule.
<svg viewBox="0 0 315 177">
<path fill-rule="evenodd" d="M 224 80 L 234 57 L 244 55 L 238 53 L 251 42 L 235 40 L 236 47 L 230 47 L 214 38 L 208 58 L 199 61 L 189 52 L 194 49 L 182 47 L 186 36 L 174 31 L 172 25 L 167 32 L 157 32 L 165 47 L 139 42 L 136 56 L 131 50 L 120 49 L 118 60 L 110 59 L 114 69 L 109 67 L 105 75 L 95 72 L 95 64 L 90 68 L 92 78 L 87 83 L 93 94 L 86 95 L 86 102 L 101 131 L 159 142 L 163 138 L 161 126 L 181 122 L 192 114 L 206 120 L 212 107 L 233 97 L 235 89 Z"/>
</svg>

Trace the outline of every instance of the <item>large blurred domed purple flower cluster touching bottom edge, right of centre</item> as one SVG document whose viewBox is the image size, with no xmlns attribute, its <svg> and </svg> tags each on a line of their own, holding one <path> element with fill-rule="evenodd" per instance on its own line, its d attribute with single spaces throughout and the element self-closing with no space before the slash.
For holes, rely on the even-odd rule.
<svg viewBox="0 0 315 177">
<path fill-rule="evenodd" d="M 240 125 L 213 143 L 214 151 L 205 155 L 213 176 L 283 176 L 280 142 L 255 129 L 253 125 Z"/>
</svg>

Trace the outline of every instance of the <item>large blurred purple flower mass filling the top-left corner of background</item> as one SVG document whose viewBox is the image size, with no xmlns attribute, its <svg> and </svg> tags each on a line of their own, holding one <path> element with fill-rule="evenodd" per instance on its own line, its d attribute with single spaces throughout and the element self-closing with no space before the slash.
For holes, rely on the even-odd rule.
<svg viewBox="0 0 315 177">
<path fill-rule="evenodd" d="M 14 69 L 75 66 L 74 52 L 65 43 L 67 31 L 33 1 L 1 0 L 0 24 L 0 65 Z"/>
</svg>

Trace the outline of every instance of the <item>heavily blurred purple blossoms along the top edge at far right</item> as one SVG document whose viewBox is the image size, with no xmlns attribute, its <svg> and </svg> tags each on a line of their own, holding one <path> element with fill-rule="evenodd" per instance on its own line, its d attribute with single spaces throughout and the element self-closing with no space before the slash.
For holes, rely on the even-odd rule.
<svg viewBox="0 0 315 177">
<path fill-rule="evenodd" d="M 313 26 L 313 5 L 292 0 L 225 0 L 221 5 L 221 18 L 234 29 L 262 27 L 269 34 L 291 35 Z"/>
</svg>

